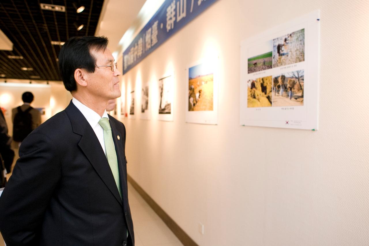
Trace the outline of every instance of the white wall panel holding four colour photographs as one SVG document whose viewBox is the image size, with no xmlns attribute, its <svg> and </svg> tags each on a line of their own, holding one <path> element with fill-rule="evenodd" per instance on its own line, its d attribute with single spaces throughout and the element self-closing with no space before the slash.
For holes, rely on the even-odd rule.
<svg viewBox="0 0 369 246">
<path fill-rule="evenodd" d="M 318 129 L 320 11 L 241 42 L 240 124 Z"/>
</svg>

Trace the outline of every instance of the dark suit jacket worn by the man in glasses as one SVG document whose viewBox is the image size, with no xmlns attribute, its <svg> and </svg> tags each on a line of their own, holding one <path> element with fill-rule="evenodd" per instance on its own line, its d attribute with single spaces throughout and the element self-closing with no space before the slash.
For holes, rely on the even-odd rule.
<svg viewBox="0 0 369 246">
<path fill-rule="evenodd" d="M 0 231 L 7 246 L 121 246 L 127 240 L 134 245 L 125 127 L 113 117 L 109 122 L 123 201 L 96 134 L 70 102 L 21 144 L 0 198 Z"/>
</svg>

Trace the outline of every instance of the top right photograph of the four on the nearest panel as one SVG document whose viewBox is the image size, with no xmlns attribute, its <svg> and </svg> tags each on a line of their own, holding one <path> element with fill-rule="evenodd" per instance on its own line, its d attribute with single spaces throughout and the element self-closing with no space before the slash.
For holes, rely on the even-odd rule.
<svg viewBox="0 0 369 246">
<path fill-rule="evenodd" d="M 273 68 L 305 60 L 305 29 L 273 39 Z"/>
</svg>

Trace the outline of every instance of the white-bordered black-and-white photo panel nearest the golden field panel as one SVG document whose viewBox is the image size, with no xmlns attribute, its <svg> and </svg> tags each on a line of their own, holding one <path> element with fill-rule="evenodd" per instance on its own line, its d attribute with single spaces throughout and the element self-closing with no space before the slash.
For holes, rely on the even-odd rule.
<svg viewBox="0 0 369 246">
<path fill-rule="evenodd" d="M 173 121 L 174 103 L 174 80 L 173 76 L 163 76 L 158 81 L 158 119 Z"/>
</svg>

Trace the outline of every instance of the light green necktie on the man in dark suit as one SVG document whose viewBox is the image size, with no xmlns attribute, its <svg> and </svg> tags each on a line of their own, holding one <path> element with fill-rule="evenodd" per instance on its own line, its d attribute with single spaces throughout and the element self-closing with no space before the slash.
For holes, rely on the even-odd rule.
<svg viewBox="0 0 369 246">
<path fill-rule="evenodd" d="M 106 157 L 108 158 L 108 163 L 110 165 L 111 172 L 113 172 L 115 184 L 117 185 L 120 197 L 122 198 L 122 191 L 120 188 L 120 181 L 119 181 L 117 153 L 115 152 L 109 119 L 103 117 L 99 120 L 99 124 L 104 129 L 104 143 L 105 143 Z"/>
</svg>

